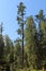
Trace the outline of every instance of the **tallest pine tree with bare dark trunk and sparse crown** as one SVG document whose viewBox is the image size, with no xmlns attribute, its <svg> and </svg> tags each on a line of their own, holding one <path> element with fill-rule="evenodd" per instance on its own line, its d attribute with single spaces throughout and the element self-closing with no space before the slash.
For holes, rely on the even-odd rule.
<svg viewBox="0 0 46 71">
<path fill-rule="evenodd" d="M 25 27 L 25 20 L 24 20 L 24 16 L 25 16 L 25 9 L 26 7 L 24 5 L 22 2 L 19 3 L 19 5 L 17 7 L 18 8 L 18 11 L 17 11 L 17 21 L 18 21 L 18 24 L 19 24 L 19 28 L 18 28 L 18 34 L 21 35 L 21 42 L 22 42 L 22 68 L 24 68 L 24 27 Z"/>
</svg>

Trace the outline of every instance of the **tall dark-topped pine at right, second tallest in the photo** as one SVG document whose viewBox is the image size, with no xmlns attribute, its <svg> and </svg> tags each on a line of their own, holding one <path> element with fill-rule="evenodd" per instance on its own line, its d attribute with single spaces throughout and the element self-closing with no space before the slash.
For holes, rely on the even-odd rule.
<svg viewBox="0 0 46 71">
<path fill-rule="evenodd" d="M 45 27 L 44 27 L 45 15 L 44 15 L 43 10 L 41 10 L 35 17 L 36 17 L 36 22 L 39 24 L 39 28 L 35 34 L 35 45 L 36 45 L 35 52 L 36 52 L 36 57 L 37 57 L 36 66 L 37 66 L 37 68 L 41 68 L 42 61 L 43 61 L 43 45 L 42 45 L 42 44 L 44 44 L 43 34 L 44 34 L 44 29 L 45 29 Z"/>
</svg>

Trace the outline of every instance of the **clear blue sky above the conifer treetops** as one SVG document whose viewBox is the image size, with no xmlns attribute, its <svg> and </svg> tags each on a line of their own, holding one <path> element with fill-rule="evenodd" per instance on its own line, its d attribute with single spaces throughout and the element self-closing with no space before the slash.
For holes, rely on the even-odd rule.
<svg viewBox="0 0 46 71">
<path fill-rule="evenodd" d="M 17 5 L 19 2 L 26 5 L 26 16 L 35 15 L 40 10 L 44 10 L 46 15 L 46 0 L 0 0 L 0 23 L 3 22 L 3 35 L 7 34 L 15 40 L 17 35 Z"/>
</svg>

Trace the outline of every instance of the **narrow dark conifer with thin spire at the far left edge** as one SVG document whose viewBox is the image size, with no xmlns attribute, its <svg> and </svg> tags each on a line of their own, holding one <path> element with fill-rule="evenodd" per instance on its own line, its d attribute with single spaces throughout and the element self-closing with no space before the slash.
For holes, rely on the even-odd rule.
<svg viewBox="0 0 46 71">
<path fill-rule="evenodd" d="M 2 32 L 3 32 L 3 26 L 1 23 L 1 25 L 0 25 L 0 63 L 3 62 L 3 49 L 4 49 L 4 42 L 3 42 Z"/>
</svg>

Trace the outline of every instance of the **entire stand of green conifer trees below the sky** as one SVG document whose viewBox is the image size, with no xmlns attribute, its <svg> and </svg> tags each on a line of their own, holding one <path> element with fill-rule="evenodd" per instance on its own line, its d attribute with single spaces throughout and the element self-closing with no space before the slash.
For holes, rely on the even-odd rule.
<svg viewBox="0 0 46 71">
<path fill-rule="evenodd" d="M 42 69 L 46 63 L 46 16 L 40 10 L 37 14 L 25 16 L 26 7 L 17 5 L 17 23 L 19 37 L 11 40 L 3 36 L 0 25 L 0 70 L 17 71 L 18 69 Z M 9 69 L 9 70 L 7 70 Z"/>
</svg>

